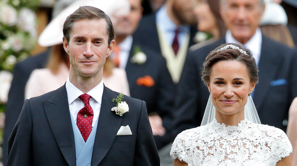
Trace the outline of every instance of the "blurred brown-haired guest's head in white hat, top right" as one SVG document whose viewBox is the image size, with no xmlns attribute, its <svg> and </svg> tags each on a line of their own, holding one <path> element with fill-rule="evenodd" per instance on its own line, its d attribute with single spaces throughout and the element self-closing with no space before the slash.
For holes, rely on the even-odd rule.
<svg viewBox="0 0 297 166">
<path fill-rule="evenodd" d="M 293 48 L 295 45 L 287 28 L 287 22 L 288 18 L 282 6 L 269 1 L 265 3 L 265 10 L 260 20 L 262 34 Z"/>
</svg>

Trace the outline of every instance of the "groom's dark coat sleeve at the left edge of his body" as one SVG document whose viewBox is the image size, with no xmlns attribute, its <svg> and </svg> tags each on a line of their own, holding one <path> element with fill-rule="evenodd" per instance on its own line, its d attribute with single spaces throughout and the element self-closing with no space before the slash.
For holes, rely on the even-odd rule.
<svg viewBox="0 0 297 166">
<path fill-rule="evenodd" d="M 32 165 L 32 120 L 29 100 L 25 101 L 8 139 L 7 166 Z"/>
</svg>

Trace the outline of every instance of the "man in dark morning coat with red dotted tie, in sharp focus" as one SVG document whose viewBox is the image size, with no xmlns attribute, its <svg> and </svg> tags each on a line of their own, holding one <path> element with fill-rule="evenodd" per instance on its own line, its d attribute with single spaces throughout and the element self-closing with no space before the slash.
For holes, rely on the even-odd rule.
<svg viewBox="0 0 297 166">
<path fill-rule="evenodd" d="M 159 165 L 145 102 L 121 98 L 102 82 L 115 45 L 110 18 L 80 7 L 67 17 L 63 34 L 69 78 L 25 101 L 8 141 L 7 165 Z"/>
</svg>

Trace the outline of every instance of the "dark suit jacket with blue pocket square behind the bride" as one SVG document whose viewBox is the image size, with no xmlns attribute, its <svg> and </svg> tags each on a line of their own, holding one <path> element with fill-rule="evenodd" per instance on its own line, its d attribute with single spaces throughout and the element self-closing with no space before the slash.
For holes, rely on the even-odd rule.
<svg viewBox="0 0 297 166">
<path fill-rule="evenodd" d="M 176 98 L 175 132 L 200 126 L 208 101 L 208 88 L 201 80 L 201 68 L 210 51 L 225 43 L 221 38 L 188 53 Z M 262 36 L 259 83 L 253 100 L 262 124 L 286 131 L 288 110 L 297 96 L 297 51 Z"/>
</svg>

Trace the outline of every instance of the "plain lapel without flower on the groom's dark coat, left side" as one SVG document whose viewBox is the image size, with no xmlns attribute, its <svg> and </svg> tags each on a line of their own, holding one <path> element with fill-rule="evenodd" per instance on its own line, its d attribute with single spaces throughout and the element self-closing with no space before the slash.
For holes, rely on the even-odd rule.
<svg viewBox="0 0 297 166">
<path fill-rule="evenodd" d="M 76 165 L 74 134 L 66 86 L 57 89 L 48 101 L 43 102 L 43 106 L 50 128 L 65 160 L 69 165 Z"/>
</svg>

